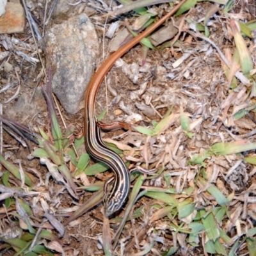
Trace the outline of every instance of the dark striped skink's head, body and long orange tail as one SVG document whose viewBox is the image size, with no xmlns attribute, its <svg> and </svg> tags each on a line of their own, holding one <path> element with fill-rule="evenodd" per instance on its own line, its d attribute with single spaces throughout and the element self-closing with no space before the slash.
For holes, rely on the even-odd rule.
<svg viewBox="0 0 256 256">
<path fill-rule="evenodd" d="M 150 28 L 145 30 L 140 35 L 134 37 L 130 42 L 123 45 L 114 52 L 108 60 L 106 60 L 97 72 L 92 77 L 90 84 L 86 90 L 84 99 L 84 144 L 86 151 L 97 161 L 105 163 L 115 173 L 115 180 L 104 205 L 105 215 L 108 217 L 115 211 L 118 211 L 124 204 L 130 190 L 130 177 L 129 170 L 124 161 L 118 154 L 110 150 L 104 145 L 100 136 L 100 128 L 97 125 L 95 116 L 95 99 L 99 90 L 100 84 L 104 76 L 108 73 L 109 69 L 114 65 L 118 58 L 122 57 L 125 52 L 129 51 L 134 45 L 138 44 L 142 38 L 152 33 L 157 27 L 159 27 L 165 20 L 177 12 L 182 4 L 186 0 L 183 0 L 173 8 L 170 13 L 167 13 L 164 17 L 157 20 Z"/>
</svg>

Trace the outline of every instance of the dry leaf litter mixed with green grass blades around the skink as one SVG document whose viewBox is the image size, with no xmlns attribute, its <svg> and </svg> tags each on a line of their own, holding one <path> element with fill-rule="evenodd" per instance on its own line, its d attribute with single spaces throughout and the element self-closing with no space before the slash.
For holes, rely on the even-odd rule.
<svg viewBox="0 0 256 256">
<path fill-rule="evenodd" d="M 127 8 L 131 4 L 120 2 Z M 138 6 L 138 20 L 130 16 L 130 23 L 147 22 L 147 10 L 163 15 L 170 8 L 164 1 L 145 2 L 153 5 Z M 1 118 L 4 129 L 33 148 L 30 154 L 11 133 L 3 133 L 3 255 L 255 255 L 256 6 L 253 1 L 212 2 L 188 1 L 180 25 L 172 19 L 179 29 L 175 40 L 161 45 L 161 51 L 135 47 L 108 74 L 108 88 L 122 100 L 111 102 L 103 120 L 129 120 L 131 129 L 102 136 L 132 169 L 129 200 L 110 220 L 101 202 L 111 172 L 84 154 L 83 138 L 77 136 L 83 113 L 64 114 L 67 125 L 60 122 L 49 90 L 51 76 L 44 90 L 49 118 L 44 99 L 29 122 L 26 114 Z M 26 4 L 45 22 L 38 14 L 44 2 Z M 76 6 L 79 12 L 93 6 L 91 18 L 98 25 L 104 24 L 101 13 L 110 10 L 101 1 Z M 122 26 L 128 28 L 127 22 Z M 36 92 L 29 80 L 42 79 L 41 85 L 46 77 L 33 40 L 1 35 L 0 44 L 5 111 L 20 93 Z M 125 75 L 118 72 L 122 65 Z M 104 113 L 103 86 L 97 102 L 97 111 Z M 36 134 L 38 145 L 27 141 L 29 132 Z"/>
</svg>

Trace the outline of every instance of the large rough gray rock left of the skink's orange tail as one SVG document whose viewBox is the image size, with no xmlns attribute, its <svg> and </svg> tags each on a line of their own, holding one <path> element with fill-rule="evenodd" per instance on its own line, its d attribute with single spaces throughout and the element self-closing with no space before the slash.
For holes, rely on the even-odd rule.
<svg viewBox="0 0 256 256">
<path fill-rule="evenodd" d="M 84 92 L 99 55 L 95 28 L 81 14 L 49 29 L 44 42 L 47 66 L 55 72 L 52 91 L 67 113 L 75 114 L 84 108 Z"/>
</svg>

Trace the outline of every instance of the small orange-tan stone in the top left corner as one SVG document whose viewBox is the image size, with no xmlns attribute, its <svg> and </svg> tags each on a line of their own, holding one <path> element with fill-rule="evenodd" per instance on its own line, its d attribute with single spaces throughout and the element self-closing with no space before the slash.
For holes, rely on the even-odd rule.
<svg viewBox="0 0 256 256">
<path fill-rule="evenodd" d="M 0 34 L 24 33 L 25 12 L 20 3 L 7 3 L 0 17 Z"/>
</svg>

